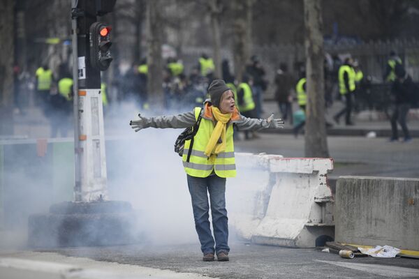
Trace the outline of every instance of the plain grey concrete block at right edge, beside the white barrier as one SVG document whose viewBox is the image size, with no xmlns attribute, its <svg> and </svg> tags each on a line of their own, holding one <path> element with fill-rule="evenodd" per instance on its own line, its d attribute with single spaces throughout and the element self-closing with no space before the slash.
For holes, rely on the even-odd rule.
<svg viewBox="0 0 419 279">
<path fill-rule="evenodd" d="M 419 179 L 341 176 L 336 241 L 419 250 Z"/>
</svg>

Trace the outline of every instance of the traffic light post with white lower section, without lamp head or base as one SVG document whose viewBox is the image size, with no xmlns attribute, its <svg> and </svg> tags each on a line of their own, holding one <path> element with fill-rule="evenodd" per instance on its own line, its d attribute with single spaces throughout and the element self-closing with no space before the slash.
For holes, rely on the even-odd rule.
<svg viewBox="0 0 419 279">
<path fill-rule="evenodd" d="M 101 73 L 91 67 L 89 54 L 95 3 L 72 0 L 75 202 L 108 199 Z"/>
</svg>

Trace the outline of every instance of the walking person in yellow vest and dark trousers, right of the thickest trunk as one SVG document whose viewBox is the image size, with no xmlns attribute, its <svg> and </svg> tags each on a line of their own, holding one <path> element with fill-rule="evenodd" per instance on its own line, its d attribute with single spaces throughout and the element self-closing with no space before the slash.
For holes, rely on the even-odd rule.
<svg viewBox="0 0 419 279">
<path fill-rule="evenodd" d="M 339 81 L 339 93 L 341 96 L 345 97 L 345 107 L 339 111 L 333 119 L 337 124 L 339 124 L 339 119 L 341 116 L 346 114 L 345 120 L 346 125 L 351 126 L 353 122 L 351 121 L 351 112 L 353 106 L 353 92 L 355 91 L 355 70 L 353 70 L 353 59 L 346 58 L 345 63 L 340 66 L 338 73 Z"/>
</svg>

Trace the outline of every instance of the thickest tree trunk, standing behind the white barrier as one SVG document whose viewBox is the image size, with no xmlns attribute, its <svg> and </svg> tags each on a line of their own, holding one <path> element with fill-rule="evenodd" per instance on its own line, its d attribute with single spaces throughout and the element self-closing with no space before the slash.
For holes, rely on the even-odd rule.
<svg viewBox="0 0 419 279">
<path fill-rule="evenodd" d="M 307 107 L 305 156 L 329 157 L 325 126 L 323 20 L 321 0 L 304 0 Z"/>
</svg>

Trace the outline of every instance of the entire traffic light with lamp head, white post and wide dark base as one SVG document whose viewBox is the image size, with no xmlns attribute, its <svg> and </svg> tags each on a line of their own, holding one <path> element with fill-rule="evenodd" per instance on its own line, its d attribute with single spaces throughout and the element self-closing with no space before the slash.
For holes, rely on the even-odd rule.
<svg viewBox="0 0 419 279">
<path fill-rule="evenodd" d="M 140 232 L 133 227 L 137 216 L 131 204 L 108 200 L 100 70 L 106 70 L 112 61 L 111 28 L 96 22 L 96 15 L 112 11 L 115 0 L 71 3 L 74 202 L 52 204 L 49 213 L 29 216 L 27 243 L 34 248 L 125 245 L 138 241 L 135 236 Z M 90 52 L 92 46 L 97 55 Z"/>
</svg>

